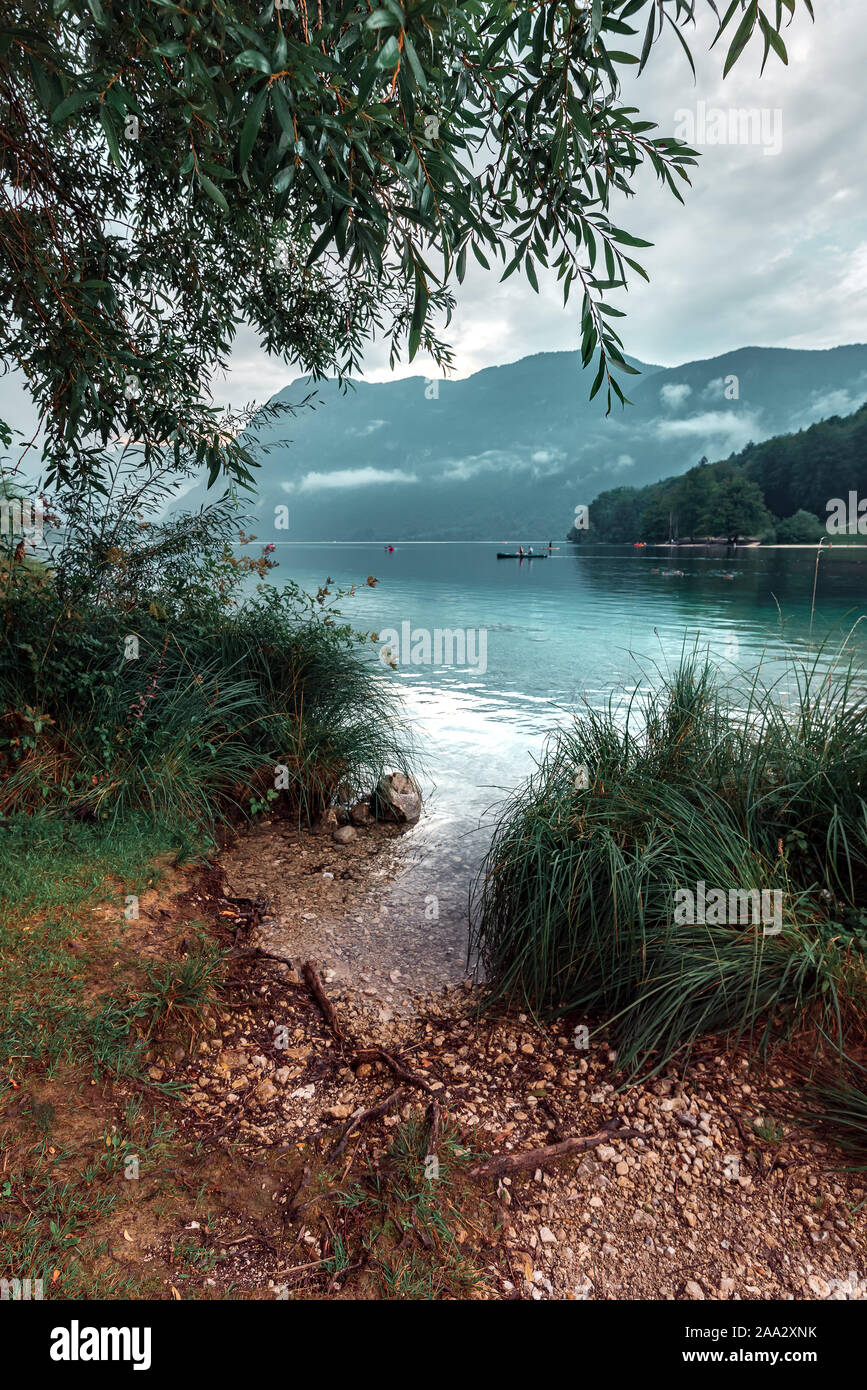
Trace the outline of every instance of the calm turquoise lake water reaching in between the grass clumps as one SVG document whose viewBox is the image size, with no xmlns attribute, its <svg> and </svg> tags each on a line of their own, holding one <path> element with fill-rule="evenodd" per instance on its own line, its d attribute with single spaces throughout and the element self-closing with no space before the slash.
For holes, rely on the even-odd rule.
<svg viewBox="0 0 867 1390">
<path fill-rule="evenodd" d="M 331 577 L 339 587 L 361 585 L 340 605 L 346 619 L 399 637 L 408 623 L 420 655 L 427 653 L 418 630 L 431 638 L 436 628 L 471 634 L 474 664 L 411 664 L 411 651 L 399 642 L 396 669 L 382 667 L 402 692 L 424 762 L 427 815 L 406 837 L 406 902 L 420 910 L 435 894 L 440 931 L 453 934 L 457 954 L 492 808 L 532 770 L 546 735 L 572 710 L 636 685 L 652 688 L 685 644 L 697 641 L 734 676 L 736 666 L 775 662 L 786 649 L 810 655 L 823 639 L 836 651 L 867 617 L 867 546 L 824 550 L 810 642 L 814 549 L 560 542 L 545 560 L 496 559 L 517 543 L 396 543 L 389 553 L 381 543 L 286 542 L 274 556 L 278 584 L 286 577 L 315 589 Z M 546 541 L 522 543 L 540 549 Z M 368 575 L 379 581 L 375 588 L 365 587 Z M 849 645 L 867 664 L 867 621 Z"/>
</svg>

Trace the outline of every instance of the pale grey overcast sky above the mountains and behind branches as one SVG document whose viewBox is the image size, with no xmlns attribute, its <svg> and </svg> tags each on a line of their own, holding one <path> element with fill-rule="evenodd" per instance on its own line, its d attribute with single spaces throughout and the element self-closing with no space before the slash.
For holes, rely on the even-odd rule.
<svg viewBox="0 0 867 1390">
<path fill-rule="evenodd" d="M 684 111 L 763 108 L 763 143 L 707 145 L 693 171 L 686 206 L 660 189 L 653 174 L 620 215 L 621 225 L 654 242 L 639 259 L 638 277 L 618 302 L 629 353 L 675 366 L 746 345 L 831 348 L 867 338 L 867 72 L 866 0 L 816 0 L 786 31 L 789 65 L 768 61 L 759 75 L 760 44 L 722 82 L 724 50 L 709 53 L 711 32 L 693 35 L 697 79 L 679 44 L 667 35 L 624 96 L 654 120 L 660 133 L 684 135 Z M 695 139 L 700 139 L 696 131 Z M 450 328 L 456 374 L 514 361 L 528 353 L 577 346 L 579 300 L 567 309 L 556 284 L 535 295 L 513 275 L 504 285 L 470 257 Z M 400 375 L 418 375 L 417 359 Z M 270 360 L 251 334 L 236 341 L 232 371 L 214 384 L 221 402 L 264 400 L 296 371 Z M 388 350 L 372 345 L 367 375 L 388 379 Z M 0 381 L 0 414 L 14 418 L 13 388 Z M 4 409 L 6 407 L 6 409 Z M 29 414 L 29 413 L 28 413 Z M 24 424 L 19 411 L 15 423 Z"/>
</svg>

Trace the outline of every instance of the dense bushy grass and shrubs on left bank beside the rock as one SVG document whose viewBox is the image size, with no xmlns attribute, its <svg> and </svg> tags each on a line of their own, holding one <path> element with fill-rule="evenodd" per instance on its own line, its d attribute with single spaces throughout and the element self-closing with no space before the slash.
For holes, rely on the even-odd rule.
<svg viewBox="0 0 867 1390">
<path fill-rule="evenodd" d="M 307 823 L 407 770 L 370 634 L 331 581 L 265 584 L 272 548 L 247 552 L 228 506 L 151 523 L 136 498 L 96 521 L 67 498 L 44 560 L 0 564 L 0 815 Z"/>
</svg>

